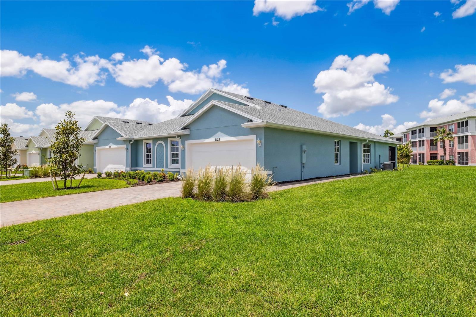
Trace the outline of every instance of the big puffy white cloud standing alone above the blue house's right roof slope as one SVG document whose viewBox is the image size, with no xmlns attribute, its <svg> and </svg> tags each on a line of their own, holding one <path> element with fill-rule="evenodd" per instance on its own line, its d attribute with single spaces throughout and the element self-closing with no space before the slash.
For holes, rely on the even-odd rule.
<svg viewBox="0 0 476 317">
<path fill-rule="evenodd" d="M 314 80 L 316 93 L 324 93 L 323 103 L 317 110 L 326 118 L 348 115 L 377 105 L 387 105 L 398 100 L 374 79 L 374 75 L 388 71 L 387 54 L 359 55 L 351 59 L 339 55 L 330 69 L 319 72 Z"/>
</svg>

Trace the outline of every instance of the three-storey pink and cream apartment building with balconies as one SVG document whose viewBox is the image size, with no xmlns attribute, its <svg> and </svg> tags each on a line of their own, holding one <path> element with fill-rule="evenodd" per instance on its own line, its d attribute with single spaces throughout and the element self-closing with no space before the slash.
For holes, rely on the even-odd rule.
<svg viewBox="0 0 476 317">
<path fill-rule="evenodd" d="M 456 165 L 476 166 L 476 109 L 444 118 L 431 119 L 403 134 L 403 141 L 412 142 L 412 164 L 430 159 L 443 159 L 443 143 L 435 144 L 436 129 L 445 127 L 453 132 L 454 141 L 446 141 L 446 159 L 454 159 Z"/>
</svg>

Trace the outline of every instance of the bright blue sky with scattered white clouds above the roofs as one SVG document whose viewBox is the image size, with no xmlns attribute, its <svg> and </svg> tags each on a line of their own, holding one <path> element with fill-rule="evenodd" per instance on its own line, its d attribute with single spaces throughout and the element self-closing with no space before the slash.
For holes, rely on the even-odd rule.
<svg viewBox="0 0 476 317">
<path fill-rule="evenodd" d="M 475 1 L 1 1 L 1 121 L 14 135 L 37 134 L 66 109 L 83 126 L 93 115 L 157 122 L 214 86 L 397 132 L 474 109 L 475 8 Z"/>
</svg>

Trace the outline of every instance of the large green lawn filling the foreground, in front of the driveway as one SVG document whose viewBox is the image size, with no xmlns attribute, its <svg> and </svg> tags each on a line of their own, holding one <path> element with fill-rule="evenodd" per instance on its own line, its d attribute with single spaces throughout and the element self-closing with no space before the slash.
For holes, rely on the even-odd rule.
<svg viewBox="0 0 476 317">
<path fill-rule="evenodd" d="M 475 184 L 411 166 L 2 228 L 0 315 L 474 315 Z"/>
</svg>

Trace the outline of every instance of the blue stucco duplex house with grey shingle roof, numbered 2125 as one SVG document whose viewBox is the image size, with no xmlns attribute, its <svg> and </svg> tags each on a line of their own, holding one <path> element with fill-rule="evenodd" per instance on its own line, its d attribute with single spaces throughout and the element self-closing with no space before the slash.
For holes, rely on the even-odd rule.
<svg viewBox="0 0 476 317">
<path fill-rule="evenodd" d="M 177 118 L 147 121 L 94 117 L 94 168 L 250 169 L 257 163 L 276 181 L 358 173 L 396 161 L 399 142 L 266 100 L 208 91 Z"/>
</svg>

